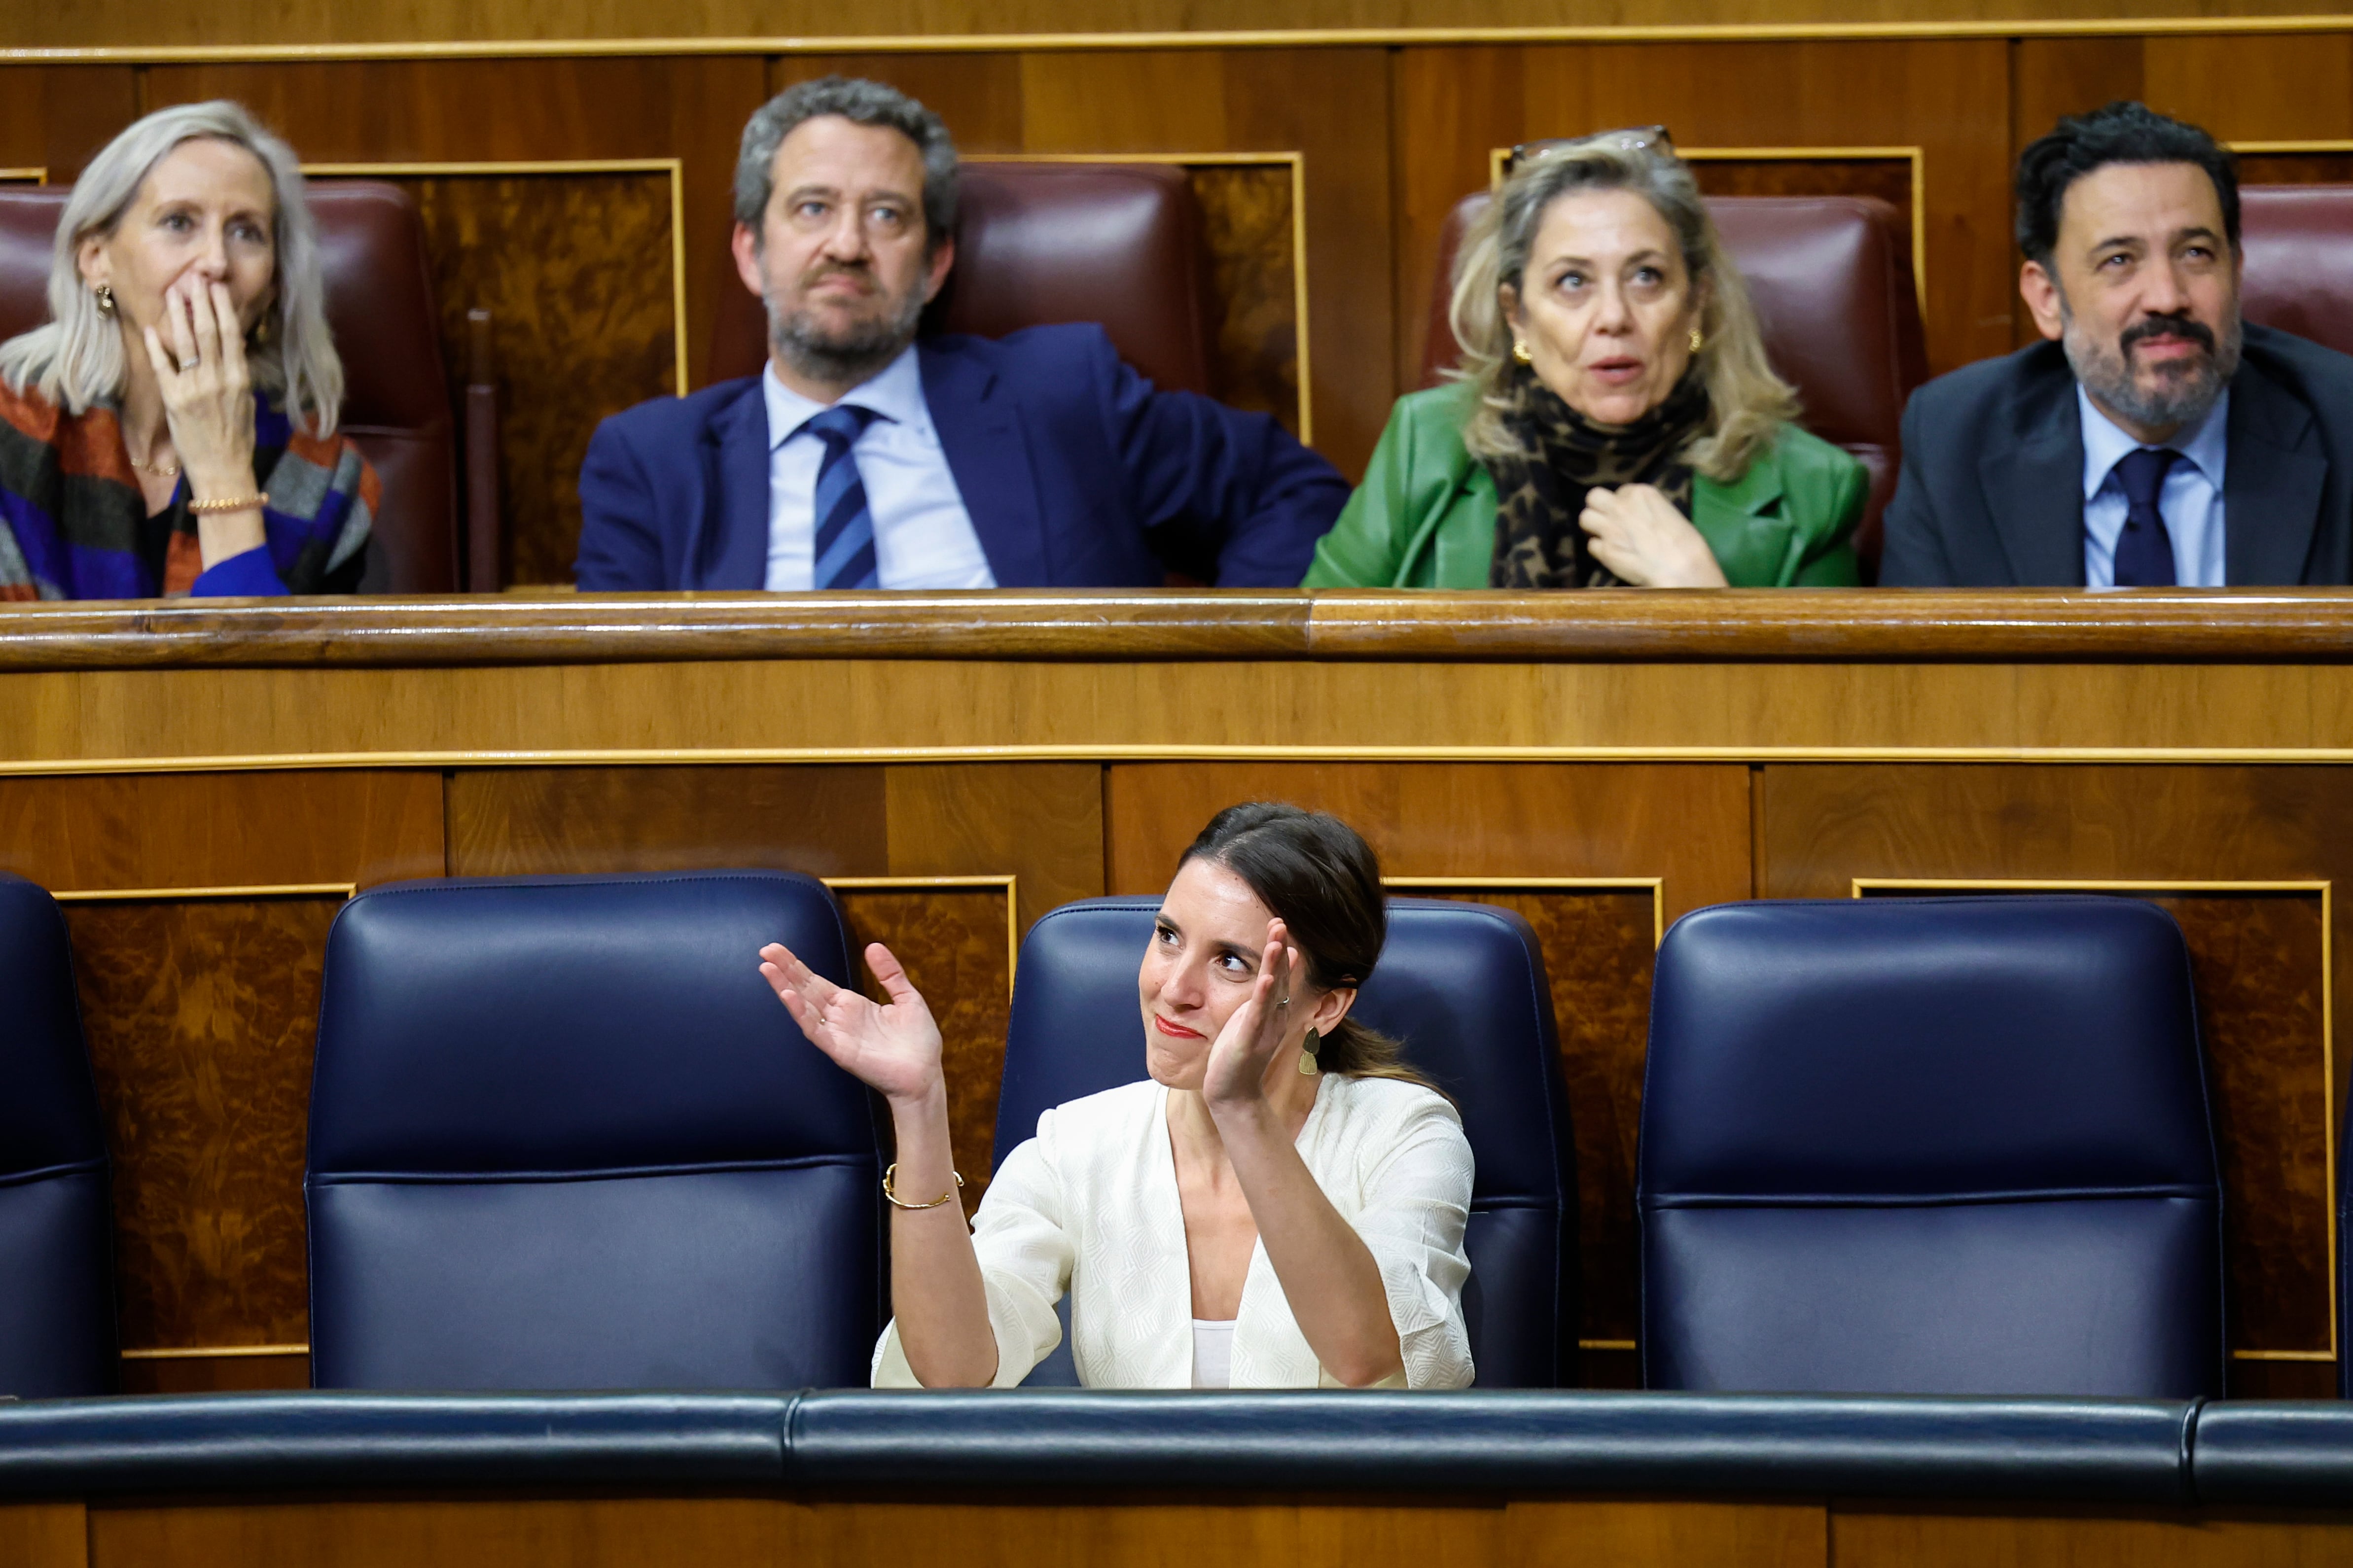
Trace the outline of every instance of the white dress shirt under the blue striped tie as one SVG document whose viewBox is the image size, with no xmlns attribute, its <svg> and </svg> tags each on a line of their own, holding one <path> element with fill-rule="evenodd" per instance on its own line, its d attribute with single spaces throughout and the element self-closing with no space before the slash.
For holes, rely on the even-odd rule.
<svg viewBox="0 0 2353 1568">
<path fill-rule="evenodd" d="M 767 397 L 767 588 L 816 588 L 816 468 L 826 442 L 805 425 L 824 414 L 776 381 L 776 367 L 760 374 Z M 875 576 L 882 588 L 995 588 L 998 578 L 972 531 L 965 496 L 948 473 L 948 454 L 932 428 L 932 404 L 922 400 L 922 367 L 908 346 L 889 367 L 842 402 L 873 409 L 849 447 L 866 482 L 866 512 L 875 524 Z"/>
</svg>

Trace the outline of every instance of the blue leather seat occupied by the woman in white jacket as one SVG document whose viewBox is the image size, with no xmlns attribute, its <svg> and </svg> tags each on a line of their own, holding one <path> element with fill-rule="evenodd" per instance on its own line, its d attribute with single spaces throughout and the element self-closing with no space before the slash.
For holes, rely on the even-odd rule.
<svg viewBox="0 0 2353 1568">
<path fill-rule="evenodd" d="M 1054 1105 L 1146 1077 L 1136 966 L 1158 912 L 1158 898 L 1087 898 L 1031 926 L 1005 1037 L 1000 1159 Z M 1537 933 L 1494 905 L 1391 898 L 1388 947 L 1355 1016 L 1405 1041 L 1461 1107 L 1478 1161 L 1464 1286 L 1478 1385 L 1572 1380 L 1577 1161 Z M 1068 1333 L 1028 1382 L 1078 1382 Z"/>
</svg>

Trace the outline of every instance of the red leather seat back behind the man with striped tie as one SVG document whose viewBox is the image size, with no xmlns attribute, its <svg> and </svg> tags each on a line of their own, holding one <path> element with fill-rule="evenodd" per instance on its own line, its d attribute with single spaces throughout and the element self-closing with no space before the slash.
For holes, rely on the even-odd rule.
<svg viewBox="0 0 2353 1568">
<path fill-rule="evenodd" d="M 1200 205 L 1169 165 L 967 162 L 955 270 L 925 331 L 1000 339 L 1021 327 L 1101 322 L 1155 386 L 1209 393 L 1209 303 Z M 767 362 L 748 289 L 720 289 L 711 381 Z"/>
</svg>

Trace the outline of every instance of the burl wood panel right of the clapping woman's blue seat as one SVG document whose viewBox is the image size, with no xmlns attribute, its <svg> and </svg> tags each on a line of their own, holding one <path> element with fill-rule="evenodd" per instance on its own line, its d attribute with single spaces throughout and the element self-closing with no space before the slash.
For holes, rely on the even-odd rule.
<svg viewBox="0 0 2353 1568">
<path fill-rule="evenodd" d="M 1649 893 L 1607 889 L 1400 889 L 1518 912 L 1537 931 L 1553 985 L 1553 1025 L 1577 1133 L 1577 1338 L 1633 1340 L 1640 1253 L 1633 1227 L 1633 1145 L 1642 1121 L 1649 971 L 1657 959 Z M 1584 1382 L 1626 1380 L 1624 1349 L 1586 1347 Z"/>
</svg>

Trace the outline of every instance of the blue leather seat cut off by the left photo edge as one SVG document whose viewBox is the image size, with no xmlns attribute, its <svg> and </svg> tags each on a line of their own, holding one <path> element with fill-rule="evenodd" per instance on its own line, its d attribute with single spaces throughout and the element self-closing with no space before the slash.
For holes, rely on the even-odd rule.
<svg viewBox="0 0 2353 1568">
<path fill-rule="evenodd" d="M 106 1124 L 56 900 L 0 875 L 0 1394 L 115 1387 Z"/>
</svg>

